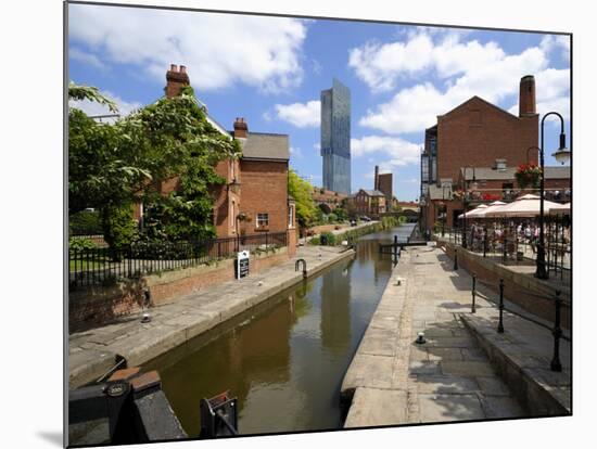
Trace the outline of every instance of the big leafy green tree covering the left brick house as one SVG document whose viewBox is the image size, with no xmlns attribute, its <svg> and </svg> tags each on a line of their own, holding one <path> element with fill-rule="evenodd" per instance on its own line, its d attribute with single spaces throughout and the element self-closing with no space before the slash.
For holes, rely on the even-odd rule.
<svg viewBox="0 0 597 449">
<path fill-rule="evenodd" d="M 72 82 L 68 95 L 117 111 L 97 88 Z M 115 124 L 97 123 L 71 107 L 69 213 L 86 207 L 102 210 L 104 233 L 115 244 L 119 241 L 113 239 L 115 229 L 107 228 L 111 223 L 122 224 L 122 210 L 130 209 L 138 201 L 154 211 L 152 230 L 156 235 L 173 240 L 212 235 L 209 187 L 224 182 L 215 172 L 215 165 L 239 155 L 238 142 L 206 120 L 190 87 L 178 97 L 162 98 Z M 167 196 L 158 194 L 155 187 L 173 177 L 179 178 L 180 189 Z"/>
</svg>

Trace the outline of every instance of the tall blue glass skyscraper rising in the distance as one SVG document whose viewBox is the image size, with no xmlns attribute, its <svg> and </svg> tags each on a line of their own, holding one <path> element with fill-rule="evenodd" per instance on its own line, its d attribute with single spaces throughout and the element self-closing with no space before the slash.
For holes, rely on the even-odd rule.
<svg viewBox="0 0 597 449">
<path fill-rule="evenodd" d="M 321 91 L 323 188 L 351 194 L 351 91 L 338 79 Z"/>
</svg>

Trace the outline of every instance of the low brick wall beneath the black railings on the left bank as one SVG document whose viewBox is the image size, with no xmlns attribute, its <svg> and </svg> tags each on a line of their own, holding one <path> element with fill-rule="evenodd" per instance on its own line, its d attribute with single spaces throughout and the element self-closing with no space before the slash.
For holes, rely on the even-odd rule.
<svg viewBox="0 0 597 449">
<path fill-rule="evenodd" d="M 292 257 L 294 251 L 278 248 L 268 254 L 251 255 L 251 272 L 259 272 Z M 166 271 L 139 280 L 126 280 L 112 286 L 91 286 L 68 293 L 68 329 L 80 330 L 105 323 L 142 310 L 144 291 L 151 306 L 173 303 L 182 295 L 200 292 L 209 285 L 234 279 L 234 259 L 213 265 Z"/>
</svg>

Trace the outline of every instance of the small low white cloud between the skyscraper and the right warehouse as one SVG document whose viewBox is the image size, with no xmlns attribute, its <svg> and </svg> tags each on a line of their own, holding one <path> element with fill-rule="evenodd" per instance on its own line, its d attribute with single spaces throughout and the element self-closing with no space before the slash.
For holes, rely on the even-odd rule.
<svg viewBox="0 0 597 449">
<path fill-rule="evenodd" d="M 420 161 L 420 144 L 390 136 L 366 136 L 351 139 L 351 153 L 361 157 L 371 153 L 381 153 L 390 157 L 382 169 L 391 171 L 390 167 L 418 164 Z"/>
</svg>

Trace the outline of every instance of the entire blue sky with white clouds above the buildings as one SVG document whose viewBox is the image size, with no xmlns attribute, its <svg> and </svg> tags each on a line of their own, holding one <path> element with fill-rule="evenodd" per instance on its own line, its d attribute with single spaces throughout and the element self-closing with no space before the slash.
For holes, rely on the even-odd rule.
<svg viewBox="0 0 597 449">
<path fill-rule="evenodd" d="M 321 185 L 319 93 L 339 78 L 352 93 L 352 185 L 372 188 L 374 165 L 394 194 L 415 200 L 424 129 L 479 95 L 518 114 L 534 75 L 539 114 L 570 116 L 568 37 L 346 21 L 71 4 L 69 78 L 97 86 L 126 114 L 163 94 L 170 63 L 227 129 L 290 136 L 291 166 Z M 89 114 L 104 111 L 88 103 Z M 546 154 L 558 143 L 546 126 Z M 570 141 L 569 141 L 570 145 Z M 555 161 L 547 156 L 547 165 Z"/>
</svg>

